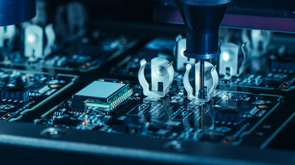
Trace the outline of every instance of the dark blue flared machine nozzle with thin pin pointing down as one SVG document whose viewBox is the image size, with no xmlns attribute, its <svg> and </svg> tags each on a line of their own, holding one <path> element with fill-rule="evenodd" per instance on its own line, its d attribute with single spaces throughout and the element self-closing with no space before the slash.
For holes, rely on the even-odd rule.
<svg viewBox="0 0 295 165">
<path fill-rule="evenodd" d="M 219 26 L 231 0 L 175 0 L 187 28 L 184 56 L 200 60 L 198 98 L 205 98 L 204 61 L 220 54 Z"/>
</svg>

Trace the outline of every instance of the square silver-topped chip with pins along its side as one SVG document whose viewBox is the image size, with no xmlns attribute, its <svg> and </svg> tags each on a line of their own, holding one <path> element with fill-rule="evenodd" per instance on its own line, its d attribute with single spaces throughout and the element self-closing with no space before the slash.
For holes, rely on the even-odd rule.
<svg viewBox="0 0 295 165">
<path fill-rule="evenodd" d="M 73 96 L 73 111 L 84 111 L 86 107 L 97 107 L 110 111 L 132 94 L 129 84 L 94 81 Z"/>
</svg>

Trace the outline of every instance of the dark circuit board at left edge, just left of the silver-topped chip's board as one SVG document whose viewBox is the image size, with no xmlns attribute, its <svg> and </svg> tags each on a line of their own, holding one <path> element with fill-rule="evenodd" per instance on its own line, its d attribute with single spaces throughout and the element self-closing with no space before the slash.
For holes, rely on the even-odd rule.
<svg viewBox="0 0 295 165">
<path fill-rule="evenodd" d="M 77 79 L 67 74 L 50 74 L 15 69 L 0 70 L 0 120 L 15 121 L 55 98 Z"/>
</svg>

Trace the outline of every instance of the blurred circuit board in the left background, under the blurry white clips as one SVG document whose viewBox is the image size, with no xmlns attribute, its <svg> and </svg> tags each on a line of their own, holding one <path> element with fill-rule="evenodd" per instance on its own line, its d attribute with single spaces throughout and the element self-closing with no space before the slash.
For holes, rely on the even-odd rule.
<svg viewBox="0 0 295 165">
<path fill-rule="evenodd" d="M 0 64 L 89 72 L 129 50 L 139 41 L 139 38 L 131 35 L 95 31 L 77 41 L 57 44 L 53 53 L 42 58 L 23 57 L 21 49 L 4 51 Z"/>
</svg>

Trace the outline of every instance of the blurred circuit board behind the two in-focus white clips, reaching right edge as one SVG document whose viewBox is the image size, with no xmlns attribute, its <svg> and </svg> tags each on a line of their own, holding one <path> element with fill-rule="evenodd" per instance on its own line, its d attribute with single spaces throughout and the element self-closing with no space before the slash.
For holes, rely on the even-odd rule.
<svg viewBox="0 0 295 165">
<path fill-rule="evenodd" d="M 140 61 L 142 58 L 145 58 L 148 61 L 146 65 L 146 77 L 151 77 L 150 70 L 152 58 L 156 56 L 161 56 L 169 61 L 177 61 L 176 57 L 173 56 L 173 51 L 175 51 L 175 39 L 173 37 L 159 37 L 153 39 L 149 43 L 146 43 L 144 47 L 138 52 L 126 56 L 124 60 L 120 63 L 117 63 L 111 69 L 111 74 L 115 75 L 124 75 L 124 76 L 137 76 L 140 69 Z M 270 53 L 270 52 L 269 52 Z M 269 56 L 269 54 L 267 54 Z M 254 63 L 253 66 L 260 66 L 258 69 L 251 68 L 252 65 L 249 65 L 245 69 L 244 73 L 239 77 L 224 78 L 224 76 L 219 76 L 219 85 L 222 86 L 231 86 L 231 87 L 249 87 L 256 89 L 278 89 L 283 91 L 289 91 L 295 87 L 295 63 L 289 61 L 272 61 L 267 59 L 267 57 L 262 57 L 263 63 L 258 63 L 259 59 L 254 59 L 250 63 Z M 268 61 L 267 63 L 265 61 Z M 176 63 L 174 64 L 174 68 Z M 255 70 L 255 71 L 253 71 Z M 182 80 L 182 75 L 184 71 L 175 72 L 176 79 Z M 192 74 L 193 75 L 193 74 Z"/>
</svg>

